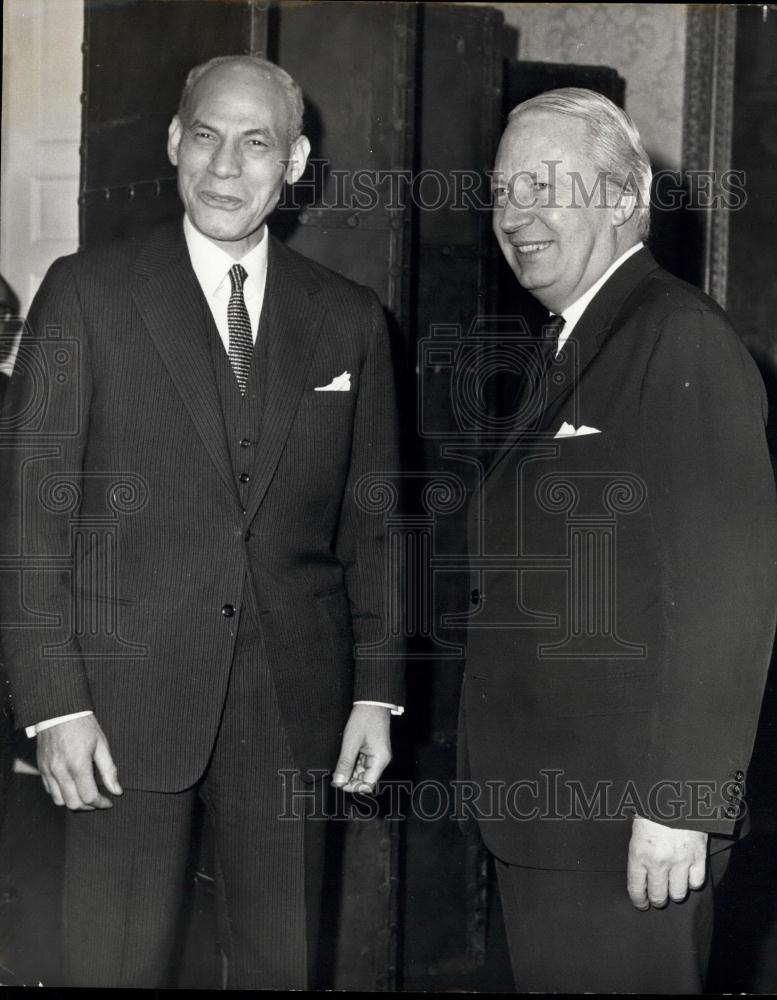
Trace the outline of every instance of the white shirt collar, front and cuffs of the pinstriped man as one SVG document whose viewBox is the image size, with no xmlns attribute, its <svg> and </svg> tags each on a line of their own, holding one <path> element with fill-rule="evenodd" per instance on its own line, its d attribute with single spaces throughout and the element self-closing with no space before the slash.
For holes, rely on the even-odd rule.
<svg viewBox="0 0 777 1000">
<path fill-rule="evenodd" d="M 232 294 L 232 282 L 229 279 L 229 271 L 235 264 L 242 264 L 246 272 L 243 281 L 243 298 L 245 299 L 248 318 L 251 322 L 251 338 L 256 343 L 256 335 L 259 330 L 259 317 L 262 314 L 264 304 L 264 291 L 267 286 L 267 226 L 262 230 L 262 238 L 249 252 L 239 261 L 234 260 L 230 255 L 216 246 L 206 236 L 195 229 L 189 221 L 189 216 L 184 215 L 183 232 L 186 238 L 186 248 L 189 251 L 189 258 L 192 262 L 192 269 L 200 284 L 202 293 L 208 303 L 216 329 L 219 332 L 224 350 L 229 353 L 229 326 L 227 323 L 227 306 L 229 297 Z M 399 705 L 388 705 L 382 701 L 357 701 L 356 705 L 378 705 L 381 708 L 390 708 L 392 715 L 402 715 L 404 708 Z M 50 729 L 61 722 L 70 722 L 71 719 L 80 719 L 85 715 L 92 715 L 89 710 L 84 712 L 73 712 L 70 715 L 60 715 L 55 719 L 46 719 L 45 722 L 38 722 L 35 725 L 27 726 L 25 732 L 29 737 L 37 736 L 44 729 Z"/>
</svg>

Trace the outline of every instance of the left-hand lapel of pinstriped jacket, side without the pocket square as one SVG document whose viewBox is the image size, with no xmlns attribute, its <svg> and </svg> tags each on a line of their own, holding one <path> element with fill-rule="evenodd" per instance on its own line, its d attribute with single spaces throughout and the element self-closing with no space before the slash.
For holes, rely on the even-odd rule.
<svg viewBox="0 0 777 1000">
<path fill-rule="evenodd" d="M 237 496 L 213 363 L 204 336 L 202 290 L 180 222 L 157 230 L 134 266 L 132 294 L 189 412 L 195 430 L 229 491 Z"/>
</svg>

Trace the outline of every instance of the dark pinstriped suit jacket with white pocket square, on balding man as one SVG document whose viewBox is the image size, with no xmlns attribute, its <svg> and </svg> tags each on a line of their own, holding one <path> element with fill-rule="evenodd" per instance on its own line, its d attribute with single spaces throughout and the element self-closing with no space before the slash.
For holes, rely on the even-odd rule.
<svg viewBox="0 0 777 1000">
<path fill-rule="evenodd" d="M 271 238 L 245 511 L 207 324 L 180 224 L 63 258 L 8 391 L 16 723 L 93 708 L 126 787 L 174 791 L 203 773 L 249 596 L 300 768 L 334 765 L 354 699 L 402 699 L 399 661 L 377 645 L 382 518 L 355 495 L 397 462 L 376 296 Z M 314 391 L 344 371 L 350 392 Z"/>
</svg>

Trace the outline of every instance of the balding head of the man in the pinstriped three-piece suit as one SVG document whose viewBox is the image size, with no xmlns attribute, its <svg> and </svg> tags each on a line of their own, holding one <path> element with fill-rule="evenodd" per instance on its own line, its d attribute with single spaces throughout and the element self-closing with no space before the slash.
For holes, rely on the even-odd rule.
<svg viewBox="0 0 777 1000">
<path fill-rule="evenodd" d="M 279 85 L 233 63 L 197 81 L 187 121 L 173 119 L 167 144 L 189 220 L 235 260 L 260 242 L 284 183 L 300 177 L 309 152 L 304 136 L 289 143 Z"/>
</svg>

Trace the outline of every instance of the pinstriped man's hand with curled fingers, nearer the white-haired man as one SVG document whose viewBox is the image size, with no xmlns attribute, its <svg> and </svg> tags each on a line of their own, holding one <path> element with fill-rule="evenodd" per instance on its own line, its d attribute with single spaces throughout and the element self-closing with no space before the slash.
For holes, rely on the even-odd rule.
<svg viewBox="0 0 777 1000">
<path fill-rule="evenodd" d="M 354 705 L 332 784 L 346 792 L 372 792 L 390 760 L 391 710 L 379 705 Z"/>
</svg>

